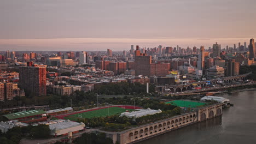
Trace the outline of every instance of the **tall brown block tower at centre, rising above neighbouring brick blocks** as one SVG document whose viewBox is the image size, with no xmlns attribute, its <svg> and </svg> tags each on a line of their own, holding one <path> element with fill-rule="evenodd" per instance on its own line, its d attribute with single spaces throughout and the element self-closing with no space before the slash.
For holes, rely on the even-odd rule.
<svg viewBox="0 0 256 144">
<path fill-rule="evenodd" d="M 149 76 L 151 63 L 152 57 L 147 56 L 147 53 L 141 53 L 137 45 L 135 51 L 135 75 Z"/>
</svg>

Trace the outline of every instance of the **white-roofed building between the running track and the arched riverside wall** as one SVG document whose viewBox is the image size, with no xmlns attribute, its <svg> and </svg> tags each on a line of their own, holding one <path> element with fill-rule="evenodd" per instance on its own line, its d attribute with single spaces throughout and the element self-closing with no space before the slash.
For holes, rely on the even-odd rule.
<svg viewBox="0 0 256 144">
<path fill-rule="evenodd" d="M 126 117 L 142 117 L 146 115 L 154 115 L 155 113 L 161 113 L 161 110 L 151 110 L 151 109 L 136 109 L 136 111 L 133 112 L 123 112 L 120 116 L 126 116 Z"/>
</svg>

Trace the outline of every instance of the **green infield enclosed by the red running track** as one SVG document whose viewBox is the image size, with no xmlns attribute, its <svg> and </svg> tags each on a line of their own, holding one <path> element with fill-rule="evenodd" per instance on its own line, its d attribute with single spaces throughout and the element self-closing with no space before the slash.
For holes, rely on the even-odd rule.
<svg viewBox="0 0 256 144">
<path fill-rule="evenodd" d="M 92 117 L 106 117 L 117 115 L 122 112 L 133 111 L 132 109 L 122 109 L 121 107 L 109 107 L 105 109 L 98 109 L 93 111 L 86 111 L 82 113 L 76 113 L 74 115 L 69 115 L 65 117 L 65 119 L 69 119 L 71 121 L 76 121 L 78 118 L 92 118 Z"/>
</svg>

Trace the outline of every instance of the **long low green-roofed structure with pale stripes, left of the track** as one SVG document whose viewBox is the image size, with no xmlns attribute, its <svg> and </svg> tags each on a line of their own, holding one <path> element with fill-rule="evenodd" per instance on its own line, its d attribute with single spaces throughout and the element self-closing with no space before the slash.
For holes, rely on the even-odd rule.
<svg viewBox="0 0 256 144">
<path fill-rule="evenodd" d="M 43 111 L 43 110 L 29 110 L 29 111 L 9 113 L 9 114 L 3 115 L 3 116 L 8 118 L 8 119 L 17 119 L 17 118 L 22 118 L 22 117 L 42 115 L 42 114 L 45 114 L 45 113 L 46 112 Z"/>
</svg>

